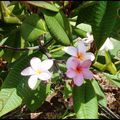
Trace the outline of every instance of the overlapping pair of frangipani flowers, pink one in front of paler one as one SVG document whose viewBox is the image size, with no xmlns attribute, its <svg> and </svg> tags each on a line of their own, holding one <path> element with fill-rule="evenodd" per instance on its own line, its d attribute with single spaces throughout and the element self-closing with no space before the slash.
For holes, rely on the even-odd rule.
<svg viewBox="0 0 120 120">
<path fill-rule="evenodd" d="M 73 46 L 65 47 L 64 51 L 71 55 L 66 62 L 66 75 L 69 78 L 73 78 L 76 86 L 81 86 L 84 79 L 93 77 L 89 67 L 95 57 L 93 53 L 87 52 L 84 42 L 79 41 L 77 48 Z"/>
</svg>

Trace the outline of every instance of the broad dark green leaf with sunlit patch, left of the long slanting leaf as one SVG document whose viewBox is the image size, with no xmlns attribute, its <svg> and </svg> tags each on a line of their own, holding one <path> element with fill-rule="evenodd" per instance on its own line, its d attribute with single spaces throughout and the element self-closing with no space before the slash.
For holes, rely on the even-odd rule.
<svg viewBox="0 0 120 120">
<path fill-rule="evenodd" d="M 21 35 L 25 40 L 32 42 L 45 33 L 45 22 L 37 14 L 28 16 L 21 25 Z"/>
</svg>

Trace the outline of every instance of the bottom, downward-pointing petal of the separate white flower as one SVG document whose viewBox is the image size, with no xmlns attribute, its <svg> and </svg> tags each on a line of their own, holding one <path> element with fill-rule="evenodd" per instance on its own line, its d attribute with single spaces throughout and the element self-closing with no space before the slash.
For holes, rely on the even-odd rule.
<svg viewBox="0 0 120 120">
<path fill-rule="evenodd" d="M 32 75 L 28 79 L 28 85 L 32 90 L 35 90 L 38 87 L 39 83 L 40 83 L 40 80 L 38 80 L 38 77 L 36 75 Z"/>
</svg>

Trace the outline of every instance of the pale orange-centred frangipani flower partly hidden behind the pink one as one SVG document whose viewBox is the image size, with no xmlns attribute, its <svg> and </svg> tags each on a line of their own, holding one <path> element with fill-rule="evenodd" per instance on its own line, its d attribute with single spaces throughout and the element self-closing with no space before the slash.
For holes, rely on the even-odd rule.
<svg viewBox="0 0 120 120">
<path fill-rule="evenodd" d="M 95 59 L 94 54 L 91 52 L 86 52 L 86 46 L 84 45 L 84 42 L 79 41 L 78 47 L 64 47 L 64 51 L 68 53 L 69 55 L 72 55 L 73 57 L 76 57 L 80 61 L 84 61 L 87 59 L 90 59 L 93 61 Z"/>
</svg>

